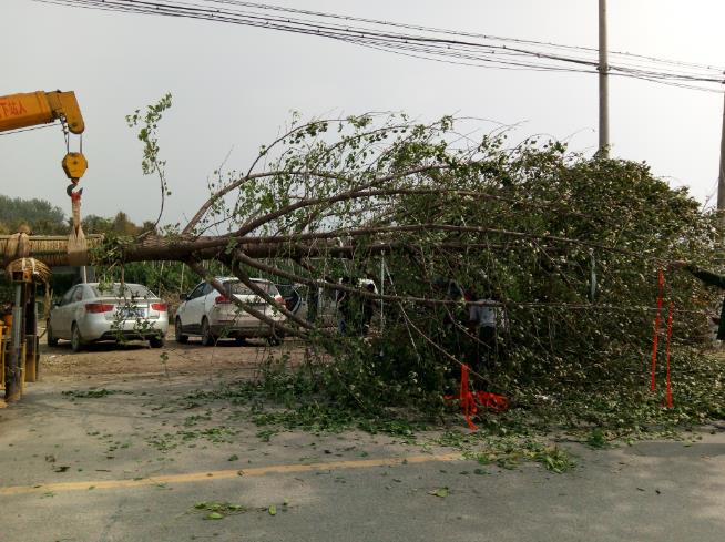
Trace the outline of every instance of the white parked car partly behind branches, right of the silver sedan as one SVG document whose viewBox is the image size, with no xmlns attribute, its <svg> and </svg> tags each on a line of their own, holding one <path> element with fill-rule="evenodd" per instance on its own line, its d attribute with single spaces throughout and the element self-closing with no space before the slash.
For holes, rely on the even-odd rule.
<svg viewBox="0 0 725 542">
<path fill-rule="evenodd" d="M 252 316 L 232 301 L 234 296 L 275 323 L 282 323 L 285 317 L 278 306 L 285 301 L 273 283 L 264 278 L 252 279 L 273 297 L 278 306 L 265 301 L 236 277 L 217 277 L 217 280 L 224 285 L 224 295 L 206 282 L 198 284 L 191 294 L 182 295 L 183 303 L 174 318 L 178 342 L 187 342 L 190 336 L 201 337 L 204 346 L 214 345 L 219 338 L 234 338 L 239 345 L 249 338 L 266 338 L 269 344 L 282 342 L 283 334 L 279 329 Z"/>
</svg>

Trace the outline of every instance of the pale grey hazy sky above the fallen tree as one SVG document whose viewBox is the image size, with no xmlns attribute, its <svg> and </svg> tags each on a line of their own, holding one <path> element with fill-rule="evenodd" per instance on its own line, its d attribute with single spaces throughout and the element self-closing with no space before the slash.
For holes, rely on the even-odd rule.
<svg viewBox="0 0 725 542">
<path fill-rule="evenodd" d="M 471 32 L 596 47 L 596 0 L 276 0 L 274 3 Z M 191 216 L 207 176 L 229 153 L 245 168 L 292 110 L 304 116 L 405 111 L 521 123 L 594 152 L 592 74 L 447 65 L 335 41 L 216 22 L 2 0 L 0 94 L 75 91 L 86 123 L 83 214 L 154 219 L 157 180 L 141 172 L 141 144 L 125 115 L 173 94 L 161 126 L 174 194 L 165 223 Z M 609 0 L 610 48 L 725 65 L 725 3 Z M 701 202 L 717 184 L 723 96 L 613 78 L 613 156 L 646 161 Z M 483 129 L 487 126 L 483 124 Z M 493 127 L 491 125 L 490 127 Z M 0 136 L 0 193 L 42 197 L 70 214 L 60 126 Z"/>
</svg>

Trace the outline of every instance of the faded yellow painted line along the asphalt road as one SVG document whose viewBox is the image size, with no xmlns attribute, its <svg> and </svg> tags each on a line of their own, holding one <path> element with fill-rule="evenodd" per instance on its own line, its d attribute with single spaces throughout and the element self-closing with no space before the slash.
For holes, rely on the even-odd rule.
<svg viewBox="0 0 725 542">
<path fill-rule="evenodd" d="M 12 485 L 0 488 L 0 495 L 20 495 L 25 493 L 59 493 L 65 491 L 88 491 L 89 489 L 140 488 L 161 483 L 191 483 L 210 480 L 228 480 L 233 478 L 262 477 L 265 474 L 287 474 L 294 472 L 315 472 L 337 469 L 369 469 L 372 467 L 392 467 L 397 464 L 428 463 L 431 461 L 459 461 L 460 453 L 443 453 L 428 456 L 410 456 L 402 458 L 360 459 L 354 461 L 326 461 L 323 463 L 273 464 L 241 470 L 215 470 L 205 472 L 187 472 L 136 480 L 88 480 L 82 482 L 59 482 L 39 485 Z"/>
</svg>

